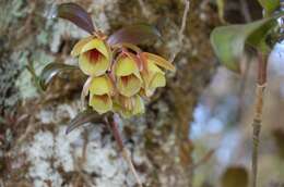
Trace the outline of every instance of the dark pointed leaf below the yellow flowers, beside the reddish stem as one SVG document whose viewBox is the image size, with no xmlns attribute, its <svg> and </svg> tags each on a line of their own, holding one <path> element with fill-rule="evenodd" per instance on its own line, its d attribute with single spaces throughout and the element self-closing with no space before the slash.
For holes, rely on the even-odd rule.
<svg viewBox="0 0 284 187">
<path fill-rule="evenodd" d="M 84 125 L 88 122 L 95 122 L 95 123 L 104 123 L 102 115 L 94 112 L 92 109 L 86 109 L 83 112 L 80 112 L 68 125 L 68 128 L 66 130 L 66 134 L 69 134 L 73 129 Z"/>
</svg>

